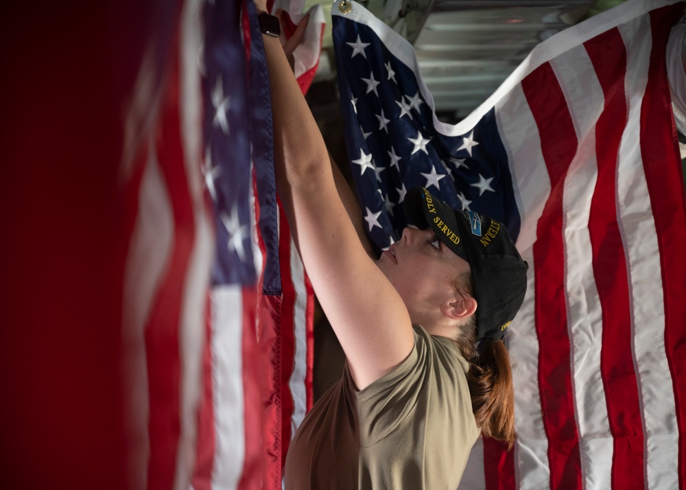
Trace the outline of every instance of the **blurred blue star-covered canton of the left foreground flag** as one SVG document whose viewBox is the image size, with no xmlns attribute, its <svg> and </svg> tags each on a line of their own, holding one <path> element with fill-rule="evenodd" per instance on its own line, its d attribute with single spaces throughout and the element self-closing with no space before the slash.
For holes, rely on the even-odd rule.
<svg viewBox="0 0 686 490">
<path fill-rule="evenodd" d="M 250 210 L 250 133 L 239 5 L 205 3 L 203 174 L 215 207 L 214 284 L 255 284 Z"/>
</svg>

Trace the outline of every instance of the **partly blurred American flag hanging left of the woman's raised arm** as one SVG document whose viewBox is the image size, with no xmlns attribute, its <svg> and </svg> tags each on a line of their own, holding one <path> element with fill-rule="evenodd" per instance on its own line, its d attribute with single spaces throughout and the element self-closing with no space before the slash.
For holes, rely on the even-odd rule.
<svg viewBox="0 0 686 490">
<path fill-rule="evenodd" d="M 287 32 L 303 3 L 287 6 Z M 281 488 L 311 406 L 314 296 L 276 200 L 252 1 L 165 5 L 128 110 L 129 487 Z M 303 91 L 323 34 L 311 12 Z"/>
</svg>

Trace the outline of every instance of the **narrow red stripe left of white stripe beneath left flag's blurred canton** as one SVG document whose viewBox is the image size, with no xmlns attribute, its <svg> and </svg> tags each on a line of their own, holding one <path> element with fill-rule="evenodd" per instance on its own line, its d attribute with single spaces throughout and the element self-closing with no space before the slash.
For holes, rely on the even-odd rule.
<svg viewBox="0 0 686 490">
<path fill-rule="evenodd" d="M 202 348 L 202 388 L 198 408 L 196 467 L 191 478 L 195 490 L 212 489 L 216 444 L 212 386 L 212 313 L 211 300 L 208 296 L 205 312 L 205 344 Z"/>
</svg>

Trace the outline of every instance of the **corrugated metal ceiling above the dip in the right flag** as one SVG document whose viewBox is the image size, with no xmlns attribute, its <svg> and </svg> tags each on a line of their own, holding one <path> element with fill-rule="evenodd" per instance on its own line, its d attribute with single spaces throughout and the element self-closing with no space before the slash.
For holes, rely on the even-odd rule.
<svg viewBox="0 0 686 490">
<path fill-rule="evenodd" d="M 536 44 L 578 22 L 595 0 L 361 3 L 410 40 L 437 112 L 459 120 L 484 102 Z M 330 5 L 322 3 L 327 12 Z M 324 49 L 331 51 L 330 32 Z M 330 60 L 333 56 L 322 60 L 320 80 L 333 77 Z"/>
</svg>

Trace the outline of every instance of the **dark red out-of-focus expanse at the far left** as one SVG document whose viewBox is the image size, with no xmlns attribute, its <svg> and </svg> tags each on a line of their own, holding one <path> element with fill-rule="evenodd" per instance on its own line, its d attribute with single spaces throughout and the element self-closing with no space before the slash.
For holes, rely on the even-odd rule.
<svg viewBox="0 0 686 490">
<path fill-rule="evenodd" d="M 116 176 L 156 7 L 3 4 L 0 487 L 121 489 Z"/>
</svg>

